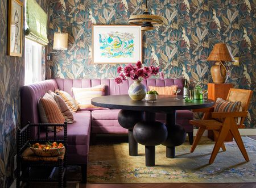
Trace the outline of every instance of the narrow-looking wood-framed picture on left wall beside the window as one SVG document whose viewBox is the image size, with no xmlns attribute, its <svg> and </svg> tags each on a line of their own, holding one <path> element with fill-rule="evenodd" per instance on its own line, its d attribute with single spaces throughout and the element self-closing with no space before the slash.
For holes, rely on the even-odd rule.
<svg viewBox="0 0 256 188">
<path fill-rule="evenodd" d="M 23 3 L 9 0 L 7 55 L 22 56 Z"/>
</svg>

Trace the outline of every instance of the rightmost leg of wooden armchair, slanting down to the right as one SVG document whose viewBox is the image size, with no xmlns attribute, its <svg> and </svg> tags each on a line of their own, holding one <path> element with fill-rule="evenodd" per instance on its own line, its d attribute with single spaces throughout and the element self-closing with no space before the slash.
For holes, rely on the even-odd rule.
<svg viewBox="0 0 256 188">
<path fill-rule="evenodd" d="M 234 137 L 234 139 L 236 140 L 236 143 L 238 145 L 238 148 L 240 149 L 241 153 L 243 154 L 243 157 L 245 158 L 245 160 L 248 162 L 250 161 L 249 160 L 249 157 L 248 157 L 248 154 L 246 152 L 246 149 L 245 149 L 245 145 L 243 145 L 243 141 L 242 141 L 242 138 L 241 138 L 241 135 L 238 131 L 238 127 L 236 124 L 232 124 L 230 126 L 230 131 Z"/>
</svg>

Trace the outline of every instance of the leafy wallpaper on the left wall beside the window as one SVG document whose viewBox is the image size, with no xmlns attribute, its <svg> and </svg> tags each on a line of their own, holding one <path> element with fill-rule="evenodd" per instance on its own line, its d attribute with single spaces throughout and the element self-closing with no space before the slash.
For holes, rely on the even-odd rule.
<svg viewBox="0 0 256 188">
<path fill-rule="evenodd" d="M 44 10 L 47 10 L 47 1 L 37 0 Z M 6 55 L 8 1 L 0 1 L 0 7 L 0 187 L 5 188 L 10 187 L 15 178 L 15 134 L 20 122 L 19 88 L 24 85 L 24 50 L 22 57 Z"/>
</svg>

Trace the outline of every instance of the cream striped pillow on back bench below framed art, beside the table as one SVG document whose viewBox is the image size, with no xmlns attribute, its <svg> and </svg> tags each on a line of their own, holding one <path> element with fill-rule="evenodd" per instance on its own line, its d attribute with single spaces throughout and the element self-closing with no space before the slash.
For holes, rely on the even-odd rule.
<svg viewBox="0 0 256 188">
<path fill-rule="evenodd" d="M 105 95 L 105 85 L 98 85 L 95 87 L 77 88 L 72 87 L 73 95 L 80 110 L 101 110 L 106 109 L 102 107 L 93 106 L 92 98 L 101 97 Z"/>
</svg>

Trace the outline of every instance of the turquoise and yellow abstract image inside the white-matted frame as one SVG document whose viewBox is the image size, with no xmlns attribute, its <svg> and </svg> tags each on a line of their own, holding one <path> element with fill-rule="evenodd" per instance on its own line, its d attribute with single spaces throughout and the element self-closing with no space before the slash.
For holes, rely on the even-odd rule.
<svg viewBox="0 0 256 188">
<path fill-rule="evenodd" d="M 110 32 L 99 34 L 102 57 L 123 58 L 133 57 L 134 35 L 126 32 Z"/>
</svg>

